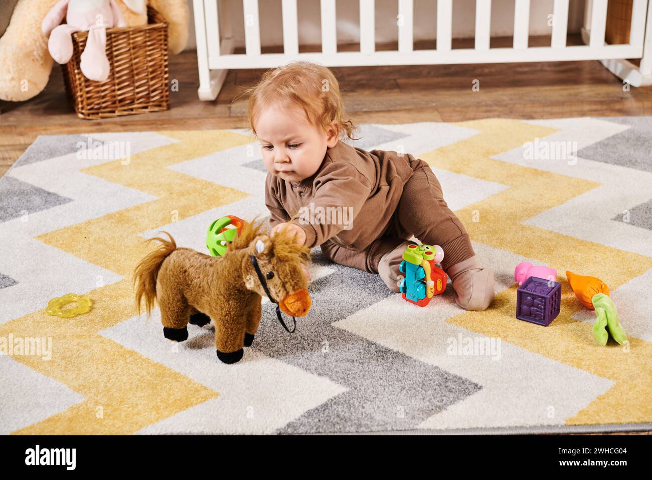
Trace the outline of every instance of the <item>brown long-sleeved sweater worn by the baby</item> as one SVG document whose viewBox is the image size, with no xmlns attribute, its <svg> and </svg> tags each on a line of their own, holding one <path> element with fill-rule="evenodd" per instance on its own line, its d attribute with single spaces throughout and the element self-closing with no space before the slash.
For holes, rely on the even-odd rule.
<svg viewBox="0 0 652 480">
<path fill-rule="evenodd" d="M 268 172 L 265 204 L 270 226 L 298 213 L 301 218 L 293 223 L 306 232 L 306 246 L 313 248 L 330 239 L 363 250 L 389 226 L 414 161 L 409 153 L 367 152 L 339 140 L 327 148 L 317 172 L 301 182 Z"/>
</svg>

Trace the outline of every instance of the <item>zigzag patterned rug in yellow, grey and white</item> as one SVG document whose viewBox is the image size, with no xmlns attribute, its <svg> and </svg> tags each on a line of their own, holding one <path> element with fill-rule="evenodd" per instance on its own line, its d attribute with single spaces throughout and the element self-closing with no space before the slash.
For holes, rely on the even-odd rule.
<svg viewBox="0 0 652 480">
<path fill-rule="evenodd" d="M 0 180 L 0 433 L 652 430 L 652 118 L 363 125 L 361 134 L 355 146 L 432 166 L 496 272 L 492 308 L 465 312 L 450 284 L 426 308 L 411 306 L 316 248 L 313 307 L 297 332 L 282 330 L 266 302 L 254 346 L 221 364 L 210 325 L 190 325 L 188 341 L 173 344 L 158 308 L 136 317 L 131 274 L 143 238 L 160 230 L 204 251 L 213 219 L 265 214 L 252 139 L 239 130 L 40 136 Z M 560 273 L 561 313 L 549 327 L 514 316 L 514 266 L 526 260 Z M 608 283 L 629 351 L 595 342 L 595 313 L 565 270 Z M 68 292 L 89 295 L 91 312 L 47 315 L 48 300 Z M 28 352 L 36 339 L 42 351 Z"/>
</svg>

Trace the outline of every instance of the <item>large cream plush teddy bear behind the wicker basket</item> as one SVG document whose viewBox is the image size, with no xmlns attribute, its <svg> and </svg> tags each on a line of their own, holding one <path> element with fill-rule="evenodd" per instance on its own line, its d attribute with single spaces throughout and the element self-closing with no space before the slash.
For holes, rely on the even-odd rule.
<svg viewBox="0 0 652 480">
<path fill-rule="evenodd" d="M 38 95 L 50 78 L 53 59 L 41 25 L 60 0 L 1 3 L 0 16 L 10 16 L 11 20 L 4 33 L 0 22 L 0 100 L 25 101 Z M 147 5 L 151 5 L 169 24 L 170 52 L 177 54 L 186 46 L 190 16 L 187 0 L 115 0 L 115 4 L 130 27 L 147 24 Z"/>
</svg>

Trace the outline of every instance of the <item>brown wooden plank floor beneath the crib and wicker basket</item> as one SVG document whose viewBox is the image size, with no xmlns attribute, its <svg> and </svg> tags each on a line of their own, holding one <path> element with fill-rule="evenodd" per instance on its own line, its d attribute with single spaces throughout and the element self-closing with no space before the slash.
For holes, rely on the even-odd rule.
<svg viewBox="0 0 652 480">
<path fill-rule="evenodd" d="M 491 46 L 511 46 L 511 41 L 511 37 L 492 39 Z M 550 45 L 550 37 L 531 37 L 529 44 Z M 568 44 L 582 43 L 578 35 L 569 35 Z M 434 47 L 434 42 L 415 42 L 416 49 Z M 473 39 L 454 39 L 452 47 L 472 48 Z M 396 50 L 396 44 L 376 48 Z M 338 45 L 338 50 L 359 50 L 359 46 Z M 301 48 L 308 51 L 319 48 Z M 282 52 L 282 48 L 263 48 L 263 53 L 268 52 Z M 40 95 L 25 103 L 0 102 L 0 175 L 38 135 L 247 127 L 246 99 L 233 99 L 263 72 L 231 70 L 216 101 L 200 102 L 196 54 L 185 52 L 170 57 L 170 78 L 179 81 L 179 91 L 171 93 L 169 111 L 90 121 L 80 120 L 72 111 L 61 70 L 55 65 Z M 333 72 L 354 123 L 652 115 L 652 87 L 623 91 L 621 80 L 599 61 L 334 67 Z M 473 80 L 479 80 L 480 91 L 471 89 Z"/>
</svg>

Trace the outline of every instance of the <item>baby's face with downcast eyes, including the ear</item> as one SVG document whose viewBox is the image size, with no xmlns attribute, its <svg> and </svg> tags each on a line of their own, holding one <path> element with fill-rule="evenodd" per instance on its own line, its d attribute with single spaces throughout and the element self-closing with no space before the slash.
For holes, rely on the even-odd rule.
<svg viewBox="0 0 652 480">
<path fill-rule="evenodd" d="M 337 135 L 311 125 L 305 112 L 278 104 L 265 108 L 256 120 L 263 163 L 274 176 L 299 182 L 315 174 Z"/>
</svg>

